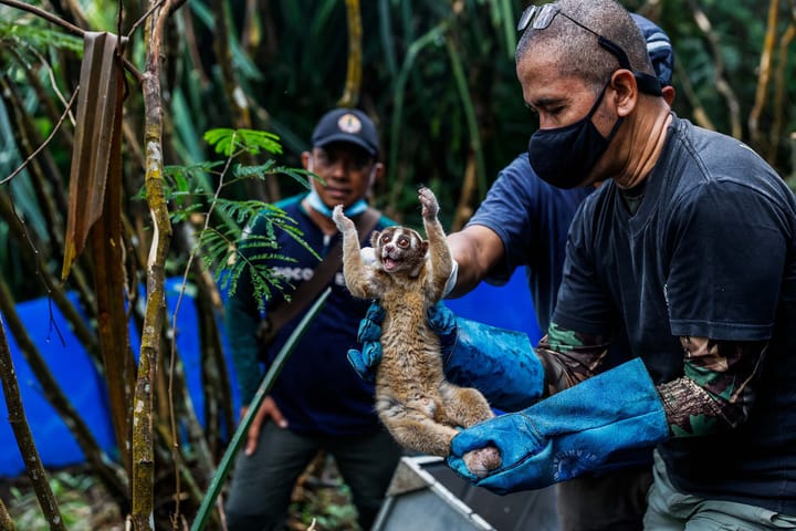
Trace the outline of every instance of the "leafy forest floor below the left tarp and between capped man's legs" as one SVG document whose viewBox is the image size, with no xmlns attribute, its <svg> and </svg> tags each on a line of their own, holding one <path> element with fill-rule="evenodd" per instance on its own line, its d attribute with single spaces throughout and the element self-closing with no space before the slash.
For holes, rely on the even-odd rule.
<svg viewBox="0 0 796 531">
<path fill-rule="evenodd" d="M 69 531 L 125 531 L 124 518 L 116 503 L 87 468 L 50 471 L 50 486 Z M 27 476 L 0 478 L 0 500 L 11 513 L 18 531 L 49 529 Z M 287 529 L 358 530 L 356 510 L 334 460 L 320 458 L 298 480 L 290 506 Z"/>
</svg>

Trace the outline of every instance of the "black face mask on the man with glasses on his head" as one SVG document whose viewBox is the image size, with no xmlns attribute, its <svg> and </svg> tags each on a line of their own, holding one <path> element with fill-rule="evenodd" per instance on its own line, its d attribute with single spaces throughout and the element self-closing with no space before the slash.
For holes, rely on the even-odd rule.
<svg viewBox="0 0 796 531">
<path fill-rule="evenodd" d="M 591 123 L 606 88 L 607 84 L 583 119 L 564 127 L 537 129 L 531 135 L 528 158 L 543 180 L 557 188 L 574 188 L 584 183 L 606 152 L 622 122 L 622 117 L 617 118 L 607 138 Z"/>
</svg>

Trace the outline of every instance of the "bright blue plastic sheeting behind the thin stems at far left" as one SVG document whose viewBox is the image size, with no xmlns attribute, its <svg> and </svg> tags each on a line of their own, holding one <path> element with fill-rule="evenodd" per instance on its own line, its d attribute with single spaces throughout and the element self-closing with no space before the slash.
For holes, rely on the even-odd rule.
<svg viewBox="0 0 796 531">
<path fill-rule="evenodd" d="M 169 325 L 171 324 L 181 284 L 181 278 L 166 281 L 166 306 Z M 193 299 L 189 293 L 190 289 L 186 291 L 179 306 L 176 331 L 177 350 L 182 360 L 188 391 L 193 400 L 197 416 L 203 425 L 205 398 L 201 393 L 201 361 L 199 358 L 197 314 Z M 73 302 L 76 301 L 74 294 L 70 294 L 70 299 Z M 143 301 L 143 299 L 140 300 Z M 18 304 L 17 311 L 25 325 L 28 334 L 38 346 L 53 377 L 61 386 L 63 394 L 69 397 L 72 406 L 83 417 L 100 447 L 111 458 L 117 458 L 104 378 L 94 366 L 83 345 L 72 333 L 57 306 L 54 303 L 51 304 L 46 299 L 36 299 Z M 52 320 L 50 319 L 51 311 Z M 72 433 L 44 397 L 35 375 L 8 327 L 6 329 L 6 335 L 17 372 L 22 405 L 42 462 L 48 468 L 82 464 L 84 461 L 83 451 L 77 446 Z M 140 351 L 139 333 L 133 324 L 130 324 L 130 346 L 137 360 Z M 168 356 L 170 353 L 165 352 L 163 355 Z M 229 358 L 228 366 L 231 367 Z M 233 412 L 238 412 L 240 397 L 234 379 L 232 388 Z M 2 394 L 0 394 L 0 415 L 8 419 L 8 408 Z M 0 476 L 14 477 L 23 473 L 24 464 L 8 421 L 0 423 L 0 449 L 2 449 L 0 451 Z"/>
</svg>

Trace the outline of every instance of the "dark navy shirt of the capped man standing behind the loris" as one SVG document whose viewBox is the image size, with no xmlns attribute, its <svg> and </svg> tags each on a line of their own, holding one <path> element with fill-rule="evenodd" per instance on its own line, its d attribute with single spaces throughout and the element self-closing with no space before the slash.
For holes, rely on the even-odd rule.
<svg viewBox="0 0 796 531">
<path fill-rule="evenodd" d="M 303 231 L 302 238 L 324 257 L 337 243 L 339 233 L 325 237 L 301 206 L 302 198 L 285 199 L 276 206 L 297 221 Z M 392 222 L 383 217 L 376 228 L 383 229 L 388 225 Z M 265 223 L 260 219 L 251 232 L 262 235 L 264 228 Z M 291 257 L 295 262 L 273 260 L 272 268 L 297 288 L 312 277 L 320 262 L 292 237 L 281 231 L 275 236 L 279 253 Z M 331 285 L 332 293 L 285 363 L 270 396 L 290 423 L 290 429 L 296 433 L 333 436 L 374 433 L 379 429 L 379 424 L 374 409 L 373 384 L 363 381 L 346 358 L 348 348 L 360 347 L 356 334 L 369 301 L 352 296 L 345 287 L 342 269 Z M 244 273 L 227 303 L 227 333 L 243 404 L 251 402 L 263 369 L 273 362 L 306 313 L 301 312 L 282 327 L 266 352 L 263 367 L 258 362 L 260 347 L 256 341 L 261 315 L 251 293 L 251 278 Z M 281 299 L 277 294 L 268 301 L 266 311 Z"/>
</svg>

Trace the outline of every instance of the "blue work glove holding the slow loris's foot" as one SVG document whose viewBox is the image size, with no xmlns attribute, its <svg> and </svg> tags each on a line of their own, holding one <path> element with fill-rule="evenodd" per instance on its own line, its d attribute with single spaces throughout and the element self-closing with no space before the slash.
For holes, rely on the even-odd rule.
<svg viewBox="0 0 796 531">
<path fill-rule="evenodd" d="M 643 362 L 635 358 L 527 409 L 464 429 L 451 441 L 448 465 L 504 494 L 597 470 L 617 452 L 668 437 L 663 404 Z M 486 446 L 498 447 L 502 464 L 479 480 L 462 456 Z"/>
</svg>

